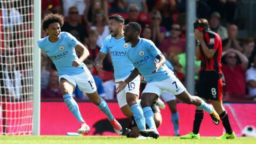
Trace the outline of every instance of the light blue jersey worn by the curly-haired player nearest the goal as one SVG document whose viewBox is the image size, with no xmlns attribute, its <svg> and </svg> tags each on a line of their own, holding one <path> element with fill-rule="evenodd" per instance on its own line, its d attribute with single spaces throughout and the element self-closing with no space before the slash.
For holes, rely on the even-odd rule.
<svg viewBox="0 0 256 144">
<path fill-rule="evenodd" d="M 57 42 L 50 42 L 49 36 L 38 40 L 38 46 L 46 52 L 52 59 L 58 70 L 59 76 L 64 74 L 76 75 L 85 72 L 85 64 L 81 63 L 78 67 L 72 66 L 74 60 L 78 60 L 75 47 L 78 40 L 68 32 L 60 32 Z"/>
</svg>

